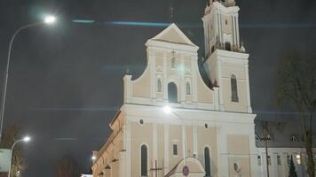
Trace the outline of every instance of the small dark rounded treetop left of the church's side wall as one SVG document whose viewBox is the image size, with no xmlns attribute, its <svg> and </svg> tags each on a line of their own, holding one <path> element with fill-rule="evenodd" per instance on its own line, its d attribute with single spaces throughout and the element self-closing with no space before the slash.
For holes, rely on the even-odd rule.
<svg viewBox="0 0 316 177">
<path fill-rule="evenodd" d="M 70 155 L 63 156 L 56 165 L 56 177 L 77 177 L 82 172 L 77 161 Z"/>
</svg>

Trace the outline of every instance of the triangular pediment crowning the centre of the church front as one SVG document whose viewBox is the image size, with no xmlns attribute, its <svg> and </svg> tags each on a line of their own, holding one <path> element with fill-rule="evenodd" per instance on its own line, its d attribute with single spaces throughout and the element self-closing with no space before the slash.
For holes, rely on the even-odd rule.
<svg viewBox="0 0 316 177">
<path fill-rule="evenodd" d="M 159 35 L 154 36 L 152 40 L 196 46 L 174 23 L 164 29 Z"/>
</svg>

